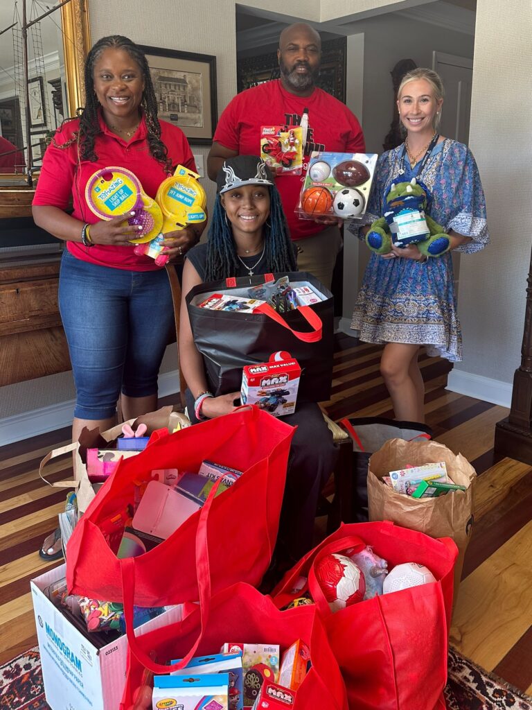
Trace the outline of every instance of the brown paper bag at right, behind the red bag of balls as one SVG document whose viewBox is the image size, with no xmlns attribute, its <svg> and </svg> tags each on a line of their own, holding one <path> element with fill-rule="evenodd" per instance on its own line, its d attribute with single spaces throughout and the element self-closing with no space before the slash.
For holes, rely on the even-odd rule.
<svg viewBox="0 0 532 710">
<path fill-rule="evenodd" d="M 382 476 L 390 471 L 445 461 L 453 483 L 466 486 L 465 491 L 446 493 L 439 498 L 411 498 L 384 484 Z M 438 442 L 406 442 L 389 439 L 370 457 L 367 472 L 367 498 L 370 520 L 392 520 L 403 528 L 425 532 L 431 537 L 452 537 L 458 547 L 455 566 L 455 596 L 462 575 L 464 555 L 470 541 L 475 514 L 475 480 L 477 474 L 462 454 L 455 456 Z M 415 559 L 412 562 L 416 562 Z"/>
</svg>

